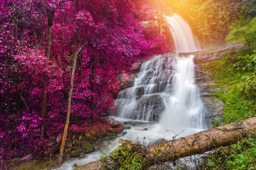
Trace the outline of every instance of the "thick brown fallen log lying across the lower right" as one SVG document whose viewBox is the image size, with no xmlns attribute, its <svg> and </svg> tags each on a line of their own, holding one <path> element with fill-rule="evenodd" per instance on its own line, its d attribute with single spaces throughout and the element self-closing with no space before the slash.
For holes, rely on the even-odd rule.
<svg viewBox="0 0 256 170">
<path fill-rule="evenodd" d="M 232 145 L 241 138 L 248 136 L 252 131 L 256 131 L 256 117 L 216 127 L 209 131 L 198 132 L 184 138 L 147 146 L 143 153 L 146 159 L 144 168 L 157 162 L 168 162 L 182 157 L 202 154 L 220 146 Z M 82 169 L 100 169 L 100 161 L 76 168 L 76 170 Z"/>
</svg>

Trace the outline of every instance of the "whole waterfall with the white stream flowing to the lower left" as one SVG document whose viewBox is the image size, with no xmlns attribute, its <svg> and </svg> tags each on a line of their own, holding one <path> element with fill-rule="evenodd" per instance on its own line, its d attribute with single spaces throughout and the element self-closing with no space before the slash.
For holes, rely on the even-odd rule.
<svg viewBox="0 0 256 170">
<path fill-rule="evenodd" d="M 195 85 L 193 55 L 200 50 L 189 25 L 177 14 L 166 17 L 172 31 L 175 54 L 157 55 L 141 65 L 134 86 L 118 94 L 116 120 L 131 129 L 114 140 L 105 141 L 97 152 L 85 159 L 66 162 L 58 169 L 72 169 L 100 159 L 100 153 L 115 150 L 118 140 L 128 139 L 146 145 L 187 136 L 206 129 L 204 104 Z M 144 131 L 143 131 L 144 130 Z"/>
</svg>

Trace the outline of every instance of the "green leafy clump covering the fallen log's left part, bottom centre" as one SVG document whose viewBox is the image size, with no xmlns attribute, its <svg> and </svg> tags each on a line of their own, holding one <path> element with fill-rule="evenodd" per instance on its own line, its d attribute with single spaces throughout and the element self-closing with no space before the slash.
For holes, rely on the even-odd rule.
<svg viewBox="0 0 256 170">
<path fill-rule="evenodd" d="M 146 164 L 143 148 L 131 141 L 124 141 L 114 152 L 102 157 L 100 161 L 103 169 L 143 169 Z"/>
</svg>

